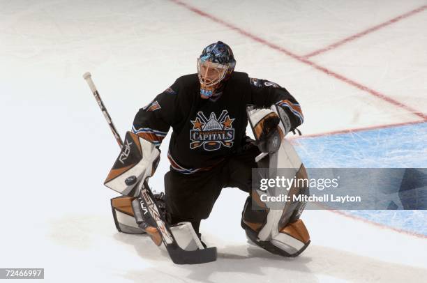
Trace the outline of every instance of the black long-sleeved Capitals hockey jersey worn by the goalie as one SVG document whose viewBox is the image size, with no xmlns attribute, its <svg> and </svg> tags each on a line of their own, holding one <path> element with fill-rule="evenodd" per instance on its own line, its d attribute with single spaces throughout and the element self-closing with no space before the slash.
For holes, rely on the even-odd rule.
<svg viewBox="0 0 427 283">
<path fill-rule="evenodd" d="M 183 174 L 207 170 L 236 153 L 246 137 L 246 105 L 279 105 L 290 117 L 291 130 L 304 121 L 297 100 L 274 82 L 233 72 L 216 99 L 200 97 L 197 74 L 179 77 L 170 88 L 140 109 L 133 132 L 160 145 L 172 127 L 168 158 Z"/>
</svg>

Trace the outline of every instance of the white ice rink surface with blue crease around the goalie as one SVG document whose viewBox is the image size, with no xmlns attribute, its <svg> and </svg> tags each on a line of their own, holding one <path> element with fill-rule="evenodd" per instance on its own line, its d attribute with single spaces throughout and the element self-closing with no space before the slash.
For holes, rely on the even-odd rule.
<svg viewBox="0 0 427 283">
<path fill-rule="evenodd" d="M 216 40 L 232 46 L 237 70 L 297 97 L 306 135 L 421 121 L 224 23 L 304 55 L 425 1 L 186 3 L 223 22 L 177 1 L 0 2 L 0 267 L 43 267 L 44 282 L 426 281 L 424 212 L 350 218 L 306 211 L 312 244 L 301 257 L 283 259 L 246 243 L 239 227 L 246 195 L 227 188 L 201 227 L 207 244 L 218 247 L 218 261 L 201 266 L 174 266 L 149 238 L 117 233 L 110 211 L 117 194 L 102 183 L 118 146 L 84 72 L 92 73 L 122 136 L 137 109 L 180 75 L 195 72 L 196 57 Z M 426 13 L 310 60 L 426 112 Z M 167 141 L 150 180 L 156 190 L 168 169 Z M 304 162 L 319 167 L 427 165 L 422 123 L 298 143 Z M 395 229 L 361 221 L 374 216 Z"/>
</svg>

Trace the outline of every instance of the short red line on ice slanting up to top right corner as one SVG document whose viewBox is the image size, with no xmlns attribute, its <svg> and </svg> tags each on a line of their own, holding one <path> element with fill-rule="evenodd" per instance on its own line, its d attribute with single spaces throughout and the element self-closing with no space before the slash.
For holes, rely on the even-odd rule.
<svg viewBox="0 0 427 283">
<path fill-rule="evenodd" d="M 318 54 L 324 53 L 324 52 L 328 52 L 331 49 L 334 49 L 336 47 L 339 47 L 345 43 L 348 43 L 350 41 L 356 40 L 357 38 L 361 38 L 362 36 L 366 36 L 368 33 L 373 33 L 374 31 L 377 31 L 378 29 L 382 29 L 384 26 L 389 26 L 390 24 L 394 24 L 395 22 L 399 22 L 400 20 L 403 20 L 407 17 L 410 17 L 412 15 L 415 15 L 417 13 L 422 12 L 423 10 L 426 10 L 427 6 L 421 6 L 417 9 L 414 9 L 410 12 L 407 12 L 403 15 L 400 15 L 398 17 L 394 17 L 391 20 L 388 20 L 387 22 L 383 22 L 382 24 L 378 24 L 377 26 L 373 26 L 369 29 L 366 29 L 365 31 L 361 31 L 359 33 L 354 34 L 353 36 L 349 36 L 347 38 L 344 38 L 343 40 L 338 41 L 337 43 L 333 43 L 331 45 L 328 45 L 327 47 L 324 47 L 322 49 L 318 49 L 315 52 L 311 52 L 310 54 L 304 55 L 304 58 L 309 58 L 312 56 L 316 56 Z"/>
</svg>

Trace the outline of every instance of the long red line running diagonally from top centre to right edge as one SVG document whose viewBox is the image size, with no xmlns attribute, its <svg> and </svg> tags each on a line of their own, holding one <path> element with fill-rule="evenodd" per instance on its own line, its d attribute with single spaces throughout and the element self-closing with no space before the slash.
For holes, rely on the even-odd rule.
<svg viewBox="0 0 427 283">
<path fill-rule="evenodd" d="M 179 6 L 183 6 L 184 8 L 186 8 L 188 10 L 191 10 L 194 13 L 197 13 L 197 15 L 201 15 L 202 17 L 207 17 L 210 20 L 213 20 L 213 22 L 218 22 L 218 24 L 222 24 L 223 26 L 227 26 L 228 28 L 233 29 L 234 31 L 237 31 L 238 33 L 241 33 L 242 35 L 244 35 L 244 36 L 246 36 L 248 38 L 251 38 L 252 40 L 256 41 L 257 43 L 262 43 L 263 45 L 267 45 L 271 49 L 275 49 L 278 52 L 286 54 L 287 56 L 290 56 L 293 59 L 295 59 L 297 61 L 300 61 L 301 63 L 305 63 L 305 64 L 307 64 L 307 65 L 315 68 L 316 70 L 320 70 L 321 72 L 324 72 L 325 74 L 327 74 L 327 75 L 329 75 L 331 77 L 335 77 L 336 79 L 338 79 L 338 80 L 340 80 L 342 82 L 350 84 L 351 86 L 354 86 L 357 89 L 360 89 L 361 91 L 365 91 L 366 93 L 369 93 L 370 95 L 374 95 L 377 98 L 380 98 L 380 99 L 382 99 L 384 101 L 387 101 L 387 102 L 389 102 L 392 105 L 395 105 L 397 107 L 405 109 L 406 111 L 408 111 L 408 112 L 410 112 L 410 113 L 412 113 L 414 115 L 417 115 L 417 116 L 423 118 L 423 120 L 427 119 L 427 115 L 426 114 L 424 114 L 422 112 L 419 112 L 419 111 L 413 109 L 412 107 L 404 105 L 403 103 L 398 102 L 397 100 L 394 100 L 393 98 L 389 98 L 388 96 L 386 96 L 386 95 L 384 95 L 384 94 L 382 94 L 382 93 L 380 93 L 378 91 L 370 89 L 370 88 L 368 88 L 368 86 L 364 86 L 362 84 L 359 84 L 358 82 L 353 81 L 352 79 L 348 79 L 347 77 L 344 77 L 343 75 L 340 75 L 337 72 L 334 72 L 334 71 L 329 70 L 327 68 L 324 68 L 324 67 L 322 67 L 320 65 L 317 65 L 316 63 L 314 63 L 312 61 L 309 61 L 308 59 L 305 59 L 302 56 L 298 56 L 297 54 L 294 54 L 294 53 L 290 52 L 289 50 L 287 50 L 287 49 L 285 49 L 283 47 L 280 47 L 280 46 L 278 46 L 278 45 L 276 45 L 274 43 L 270 43 L 269 41 L 264 40 L 263 38 L 260 38 L 259 36 L 255 36 L 254 34 L 249 33 L 248 31 L 244 31 L 243 29 L 240 29 L 239 27 L 234 26 L 234 24 L 230 24 L 228 22 L 225 22 L 224 20 L 220 20 L 218 17 L 210 15 L 210 14 L 208 14 L 208 13 L 206 13 L 206 12 L 204 12 L 204 11 L 198 9 L 198 8 L 190 6 L 187 3 L 183 3 L 183 2 L 181 2 L 179 0 L 170 0 L 170 1 L 172 1 L 173 3 L 178 4 Z"/>
</svg>

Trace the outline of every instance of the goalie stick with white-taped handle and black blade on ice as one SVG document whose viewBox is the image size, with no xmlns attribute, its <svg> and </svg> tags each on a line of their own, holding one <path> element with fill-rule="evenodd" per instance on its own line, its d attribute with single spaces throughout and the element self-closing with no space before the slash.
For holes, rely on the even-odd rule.
<svg viewBox="0 0 427 283">
<path fill-rule="evenodd" d="M 123 148 L 123 141 L 117 132 L 117 129 L 114 127 L 112 123 L 112 119 L 110 114 L 108 114 L 107 109 L 101 100 L 98 90 L 96 89 L 95 84 L 91 79 L 91 73 L 86 72 L 83 75 L 83 78 L 86 80 L 87 84 L 89 84 L 89 88 L 91 89 L 93 96 L 98 102 L 98 105 L 101 111 L 104 114 L 105 119 L 107 120 L 108 125 L 110 125 L 110 130 L 112 131 L 114 138 L 119 144 L 120 148 Z M 165 218 L 160 213 L 156 201 L 153 197 L 153 192 L 149 188 L 147 180 L 141 181 L 140 185 L 140 194 L 138 197 L 138 201 L 140 202 L 140 207 L 144 212 L 145 217 L 150 217 L 152 223 L 156 224 L 156 229 L 160 236 L 162 237 L 163 244 L 166 247 L 167 253 L 174 263 L 177 264 L 195 264 L 195 263 L 206 263 L 210 261 L 215 261 L 217 257 L 216 247 L 209 247 L 204 250 L 183 250 L 179 247 L 177 240 L 174 238 L 172 231 L 170 230 L 169 224 L 167 224 Z"/>
</svg>

